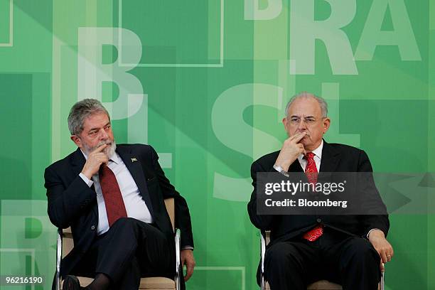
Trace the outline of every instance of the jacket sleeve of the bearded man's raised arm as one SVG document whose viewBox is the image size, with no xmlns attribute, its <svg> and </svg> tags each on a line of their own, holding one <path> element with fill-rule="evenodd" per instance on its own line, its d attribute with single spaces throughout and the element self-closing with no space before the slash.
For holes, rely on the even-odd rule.
<svg viewBox="0 0 435 290">
<path fill-rule="evenodd" d="M 56 227 L 67 228 L 83 211 L 89 210 L 95 204 L 97 195 L 78 175 L 66 187 L 57 169 L 49 166 L 44 174 L 48 217 Z"/>
</svg>

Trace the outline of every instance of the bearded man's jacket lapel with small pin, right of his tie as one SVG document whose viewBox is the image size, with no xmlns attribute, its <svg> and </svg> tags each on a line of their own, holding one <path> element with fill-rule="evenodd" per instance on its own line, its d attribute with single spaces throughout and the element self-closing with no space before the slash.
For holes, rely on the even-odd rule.
<svg viewBox="0 0 435 290">
<path fill-rule="evenodd" d="M 130 151 L 124 150 L 124 148 L 120 146 L 117 147 L 117 153 L 121 157 L 122 161 L 124 161 L 125 166 L 127 166 L 127 169 L 133 177 L 137 188 L 139 188 L 139 193 L 141 193 L 142 198 L 144 199 L 146 206 L 151 213 L 151 216 L 154 217 L 153 206 L 151 203 L 148 186 L 146 186 L 146 176 L 144 174 L 141 161 L 137 156 L 134 156 Z"/>
</svg>

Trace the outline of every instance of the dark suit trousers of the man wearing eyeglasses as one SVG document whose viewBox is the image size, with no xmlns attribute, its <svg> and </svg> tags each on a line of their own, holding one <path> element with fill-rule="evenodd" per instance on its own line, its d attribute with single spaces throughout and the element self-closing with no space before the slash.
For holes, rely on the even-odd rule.
<svg viewBox="0 0 435 290">
<path fill-rule="evenodd" d="M 264 257 L 264 276 L 271 290 L 306 290 L 322 279 L 343 290 L 375 290 L 380 256 L 362 237 L 324 227 L 314 242 L 297 237 L 273 243 Z"/>
</svg>

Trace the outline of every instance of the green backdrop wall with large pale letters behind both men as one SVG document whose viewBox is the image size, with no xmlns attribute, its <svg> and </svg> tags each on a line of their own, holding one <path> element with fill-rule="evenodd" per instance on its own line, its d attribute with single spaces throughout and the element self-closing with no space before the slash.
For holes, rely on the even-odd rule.
<svg viewBox="0 0 435 290">
<path fill-rule="evenodd" d="M 75 148 L 77 100 L 104 102 L 118 143 L 152 144 L 188 200 L 188 289 L 257 289 L 249 168 L 280 148 L 286 101 L 325 97 L 327 141 L 375 171 L 434 172 L 434 49 L 432 0 L 0 0 L 0 274 L 46 279 L 0 288 L 49 289 L 43 169 Z M 435 289 L 434 215 L 390 220 L 386 289 Z"/>
</svg>

